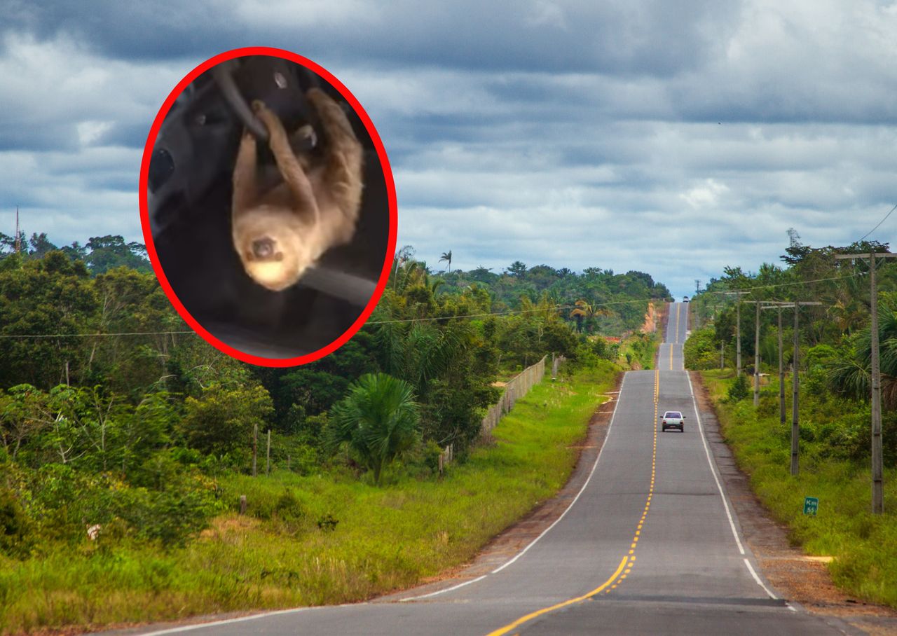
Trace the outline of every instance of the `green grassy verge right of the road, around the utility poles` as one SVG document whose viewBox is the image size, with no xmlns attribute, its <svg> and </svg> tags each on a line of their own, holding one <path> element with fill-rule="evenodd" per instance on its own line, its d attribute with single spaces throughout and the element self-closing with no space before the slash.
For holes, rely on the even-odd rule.
<svg viewBox="0 0 897 636">
<path fill-rule="evenodd" d="M 832 579 L 850 594 L 897 608 L 897 470 L 885 469 L 885 513 L 873 515 L 868 457 L 843 457 L 845 432 L 855 420 L 868 425 L 867 407 L 802 392 L 800 470 L 793 477 L 791 409 L 788 423 L 779 423 L 776 380 L 764 388 L 758 413 L 752 398 L 723 401 L 731 370 L 701 376 L 738 465 L 772 515 L 788 526 L 792 542 L 807 553 L 834 556 Z M 815 517 L 803 514 L 806 496 L 819 498 Z"/>
</svg>

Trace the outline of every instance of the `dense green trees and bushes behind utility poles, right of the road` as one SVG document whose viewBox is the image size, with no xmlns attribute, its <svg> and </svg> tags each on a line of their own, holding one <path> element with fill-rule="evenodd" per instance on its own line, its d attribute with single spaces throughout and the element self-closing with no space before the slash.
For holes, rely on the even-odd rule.
<svg viewBox="0 0 897 636">
<path fill-rule="evenodd" d="M 788 247 L 781 265 L 763 264 L 757 272 L 745 273 L 727 267 L 692 298 L 692 315 L 701 328 L 692 331 L 685 344 L 685 363 L 690 369 L 736 367 L 738 301 L 732 292 L 746 292 L 742 301 L 814 301 L 819 305 L 799 309 L 797 371 L 804 374 L 806 391 L 817 407 L 816 417 L 806 424 L 803 436 L 812 436 L 813 420 L 832 414 L 839 424 L 827 425 L 820 434 L 831 437 L 835 455 L 863 459 L 869 453 L 867 417 L 871 378 L 871 328 L 868 262 L 836 260 L 836 255 L 887 253 L 887 243 L 858 241 L 847 246 L 813 248 L 789 231 Z M 884 259 L 883 259 L 884 260 Z M 897 465 L 897 269 L 886 261 L 876 271 L 881 343 L 882 396 L 884 407 L 884 460 Z M 783 309 L 782 358 L 786 370 L 794 362 L 794 309 Z M 760 372 L 778 375 L 778 311 L 760 315 Z M 742 302 L 741 352 L 743 369 L 753 374 L 755 309 Z M 731 396 L 737 399 L 750 390 L 747 379 L 739 379 Z M 820 402 L 821 400 L 821 402 Z M 827 400 L 827 401 L 826 401 Z M 768 402 L 772 404 L 770 397 Z M 810 404 L 807 402 L 807 404 Z M 840 409 L 841 415 L 835 415 Z M 778 412 L 778 408 L 776 409 Z M 803 407 L 802 407 L 803 410 Z M 847 416 L 849 414 L 849 416 Z M 827 442 L 828 443 L 828 442 Z"/>
</svg>

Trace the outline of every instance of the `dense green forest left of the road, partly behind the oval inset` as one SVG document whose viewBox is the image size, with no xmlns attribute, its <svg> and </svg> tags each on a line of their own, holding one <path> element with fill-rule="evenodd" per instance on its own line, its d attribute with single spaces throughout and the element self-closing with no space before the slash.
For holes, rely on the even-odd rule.
<svg viewBox="0 0 897 636">
<path fill-rule="evenodd" d="M 570 279 L 560 286 L 545 285 L 538 267 L 492 283 L 457 271 L 448 279 L 406 251 L 347 344 L 318 362 L 270 369 L 235 361 L 190 331 L 143 246 L 101 237 L 84 250 L 56 249 L 38 234 L 15 252 L 9 237 L 0 242 L 8 553 L 30 553 L 43 539 L 83 541 L 85 524 L 186 541 L 229 505 L 218 478 L 251 470 L 253 431 L 271 431 L 276 464 L 301 474 L 348 471 L 377 484 L 389 469 L 428 478 L 442 447 L 454 444 L 464 460 L 497 380 L 546 353 L 571 364 L 615 359 L 616 349 L 588 332 L 613 328 L 599 326 L 602 318 L 635 328 L 649 299 L 666 294 L 647 274 L 598 269 L 559 270 L 549 277 Z M 567 295 L 553 295 L 559 289 Z M 607 298 L 623 309 L 584 323 L 564 305 L 572 296 L 588 296 L 574 309 Z"/>
</svg>

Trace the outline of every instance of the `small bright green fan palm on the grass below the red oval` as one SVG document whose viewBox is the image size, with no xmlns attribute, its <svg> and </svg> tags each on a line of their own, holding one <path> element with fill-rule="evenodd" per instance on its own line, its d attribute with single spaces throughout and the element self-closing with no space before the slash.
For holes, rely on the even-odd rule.
<svg viewBox="0 0 897 636">
<path fill-rule="evenodd" d="M 349 386 L 349 393 L 330 411 L 334 426 L 328 446 L 343 442 L 358 454 L 380 483 L 383 467 L 418 440 L 419 406 L 405 380 L 386 373 L 366 373 Z"/>
</svg>

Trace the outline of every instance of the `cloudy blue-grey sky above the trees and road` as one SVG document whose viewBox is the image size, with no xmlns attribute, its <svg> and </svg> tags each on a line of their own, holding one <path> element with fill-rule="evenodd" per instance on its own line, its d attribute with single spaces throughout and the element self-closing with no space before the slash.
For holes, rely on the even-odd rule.
<svg viewBox="0 0 897 636">
<path fill-rule="evenodd" d="M 152 8 L 150 8 L 152 5 Z M 340 78 L 441 267 L 648 272 L 858 240 L 897 204 L 897 2 L 0 0 L 0 231 L 142 240 L 152 118 L 196 65 L 287 48 Z M 893 241 L 897 213 L 870 238 Z M 443 265 L 444 266 L 444 265 Z"/>
</svg>

